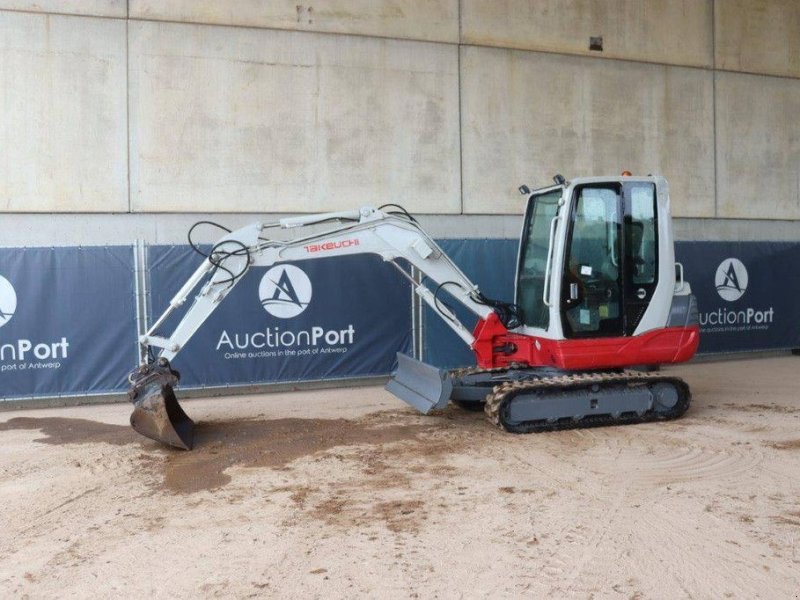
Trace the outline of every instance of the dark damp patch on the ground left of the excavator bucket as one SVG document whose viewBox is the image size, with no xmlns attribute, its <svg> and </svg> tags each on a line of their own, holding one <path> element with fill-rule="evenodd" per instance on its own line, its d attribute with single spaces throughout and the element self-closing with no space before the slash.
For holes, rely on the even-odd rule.
<svg viewBox="0 0 800 600">
<path fill-rule="evenodd" d="M 125 425 L 110 425 L 88 419 L 15 417 L 5 423 L 0 423 L 0 431 L 13 430 L 41 431 L 47 437 L 34 441 L 55 446 L 97 443 L 125 446 L 142 440 L 139 434 Z"/>
</svg>

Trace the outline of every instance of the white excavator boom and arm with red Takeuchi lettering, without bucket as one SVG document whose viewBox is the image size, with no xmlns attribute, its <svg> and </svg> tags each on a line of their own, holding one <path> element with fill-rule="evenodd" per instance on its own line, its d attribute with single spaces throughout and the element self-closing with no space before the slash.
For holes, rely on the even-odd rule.
<svg viewBox="0 0 800 600">
<path fill-rule="evenodd" d="M 289 241 L 264 237 L 264 233 L 271 228 L 297 229 L 333 220 L 350 222 Z M 171 361 L 251 267 L 270 267 L 283 262 L 353 254 L 377 254 L 394 265 L 411 281 L 420 298 L 469 346 L 475 341 L 472 333 L 447 306 L 437 300 L 435 292 L 413 280 L 397 260 L 406 260 L 437 286 L 446 287 L 451 296 L 477 317 L 486 319 L 494 312 L 478 286 L 461 272 L 415 221 L 365 207 L 357 211 L 286 218 L 276 223 L 252 223 L 224 236 L 175 294 L 167 310 L 140 338 L 140 343 L 160 348 L 159 357 Z M 192 291 L 204 281 L 194 304 L 172 334 L 168 337 L 157 334 L 167 317 L 183 305 Z"/>
</svg>

